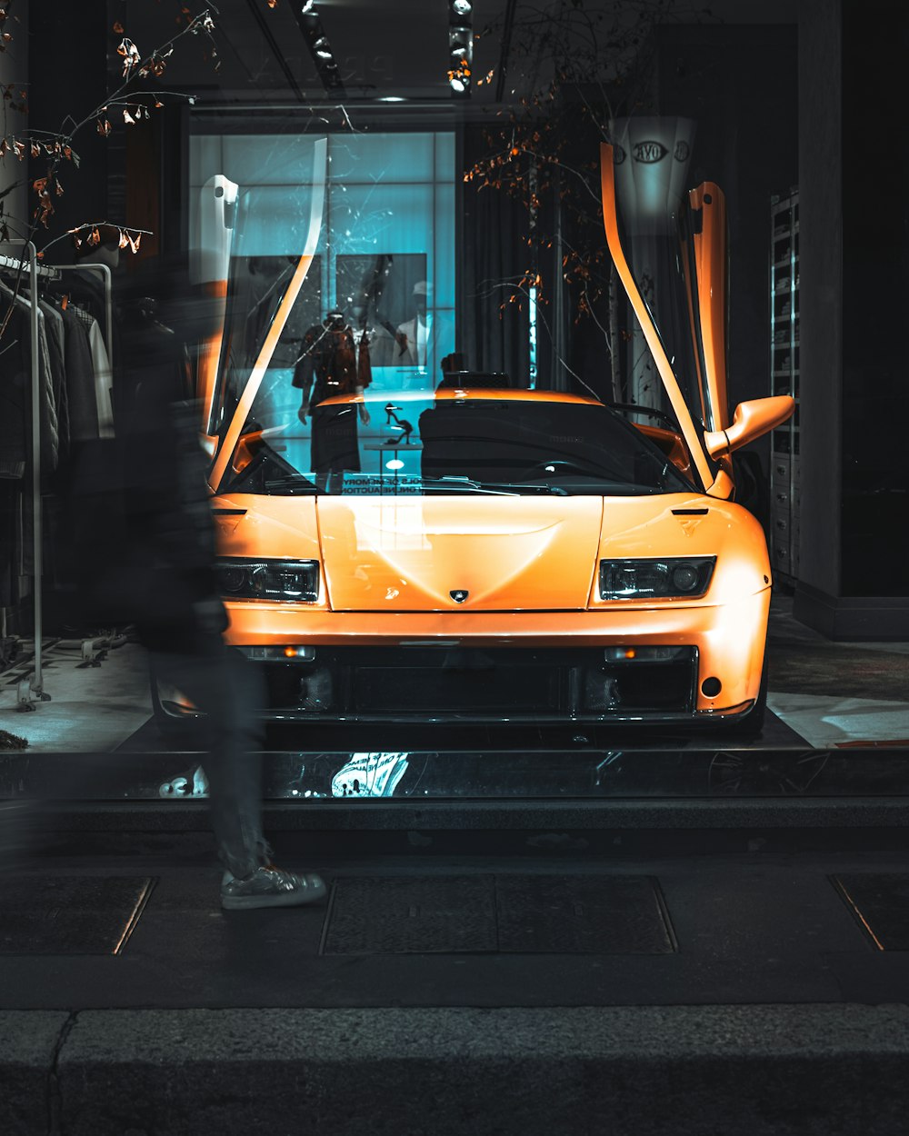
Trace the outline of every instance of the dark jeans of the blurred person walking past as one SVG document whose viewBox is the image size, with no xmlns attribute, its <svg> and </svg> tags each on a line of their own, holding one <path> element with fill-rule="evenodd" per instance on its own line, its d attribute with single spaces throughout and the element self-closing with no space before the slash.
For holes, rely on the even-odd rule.
<svg viewBox="0 0 909 1136">
<path fill-rule="evenodd" d="M 261 827 L 262 676 L 220 642 L 192 654 L 151 651 L 150 661 L 206 715 L 202 768 L 218 857 L 234 876 L 248 876 L 272 857 Z"/>
</svg>

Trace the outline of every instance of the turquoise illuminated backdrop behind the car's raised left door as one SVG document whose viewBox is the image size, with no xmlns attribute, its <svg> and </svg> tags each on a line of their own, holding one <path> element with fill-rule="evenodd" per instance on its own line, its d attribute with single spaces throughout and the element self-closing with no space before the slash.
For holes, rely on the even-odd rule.
<svg viewBox="0 0 909 1136">
<path fill-rule="evenodd" d="M 209 177 L 224 174 L 241 193 L 256 193 L 257 211 L 247 223 L 243 254 L 299 256 L 295 190 L 311 178 L 311 133 L 193 133 L 190 201 L 198 202 Z M 454 189 L 451 131 L 328 135 L 328 184 L 317 259 L 298 306 L 307 318 L 340 308 L 353 324 L 358 290 L 381 264 L 381 300 L 368 323 L 374 382 L 382 386 L 430 391 L 439 382 L 442 358 L 454 350 Z M 197 209 L 191 210 L 191 247 L 198 242 Z M 424 284 L 428 332 L 418 346 L 411 335 L 409 351 L 392 350 L 390 336 L 416 326 L 416 301 Z M 299 323 L 293 320 L 294 326 Z"/>
</svg>

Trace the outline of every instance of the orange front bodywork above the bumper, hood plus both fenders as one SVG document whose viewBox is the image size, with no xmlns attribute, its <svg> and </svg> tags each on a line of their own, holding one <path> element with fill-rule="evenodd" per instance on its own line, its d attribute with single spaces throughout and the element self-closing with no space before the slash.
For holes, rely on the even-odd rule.
<svg viewBox="0 0 909 1136">
<path fill-rule="evenodd" d="M 651 498 L 298 498 L 215 501 L 223 557 L 320 560 L 336 611 L 568 611 L 600 607 L 599 560 L 717 557 L 703 599 L 769 586 L 764 531 L 741 506 Z M 460 602 L 452 592 L 467 592 Z M 609 602 L 609 601 L 606 601 Z M 647 605 L 652 605 L 647 604 Z"/>
</svg>

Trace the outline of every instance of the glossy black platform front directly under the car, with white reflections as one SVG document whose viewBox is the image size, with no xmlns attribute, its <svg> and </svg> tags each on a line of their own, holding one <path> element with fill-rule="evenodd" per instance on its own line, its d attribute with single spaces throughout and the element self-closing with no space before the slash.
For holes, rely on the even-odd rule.
<svg viewBox="0 0 909 1136">
<path fill-rule="evenodd" d="M 207 795 L 194 752 L 10 754 L 0 800 L 153 802 Z M 643 799 L 900 799 L 903 749 L 323 750 L 269 751 L 267 801 L 419 803 Z"/>
</svg>

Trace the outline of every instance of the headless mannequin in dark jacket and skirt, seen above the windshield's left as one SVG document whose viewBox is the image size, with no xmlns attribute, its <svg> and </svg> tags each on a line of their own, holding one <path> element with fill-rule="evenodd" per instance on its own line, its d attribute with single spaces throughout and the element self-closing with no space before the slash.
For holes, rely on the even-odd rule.
<svg viewBox="0 0 909 1136">
<path fill-rule="evenodd" d="M 322 324 L 303 336 L 303 351 L 293 370 L 293 385 L 302 391 L 297 416 L 306 425 L 307 415 L 339 394 L 361 395 L 372 382 L 369 340 L 366 331 L 355 339 L 342 311 L 330 311 Z M 366 403 L 358 406 L 364 426 L 369 423 Z M 325 407 L 312 417 L 314 473 L 360 469 L 357 415 L 352 406 Z"/>
</svg>

